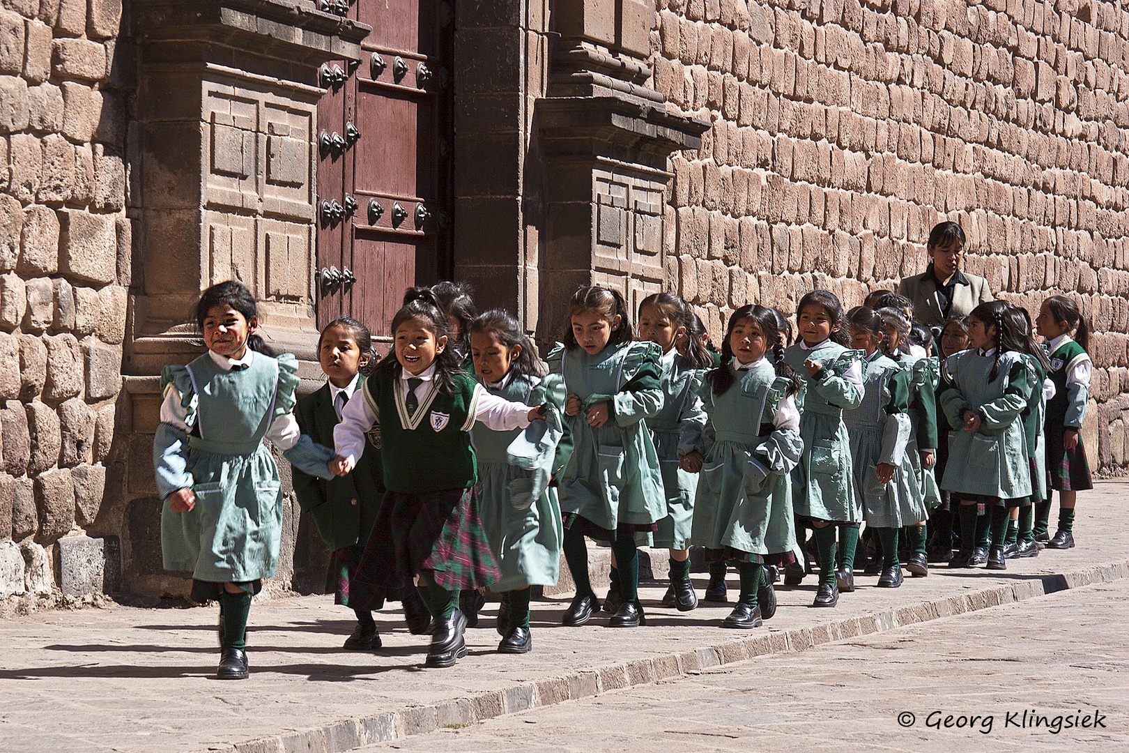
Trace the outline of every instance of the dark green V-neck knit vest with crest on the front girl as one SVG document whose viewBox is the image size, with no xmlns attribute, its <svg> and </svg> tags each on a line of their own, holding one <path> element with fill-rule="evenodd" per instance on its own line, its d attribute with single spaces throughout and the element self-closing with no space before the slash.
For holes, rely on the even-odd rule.
<svg viewBox="0 0 1129 753">
<path fill-rule="evenodd" d="M 388 491 L 466 489 L 478 481 L 470 429 L 478 403 L 473 377 L 456 374 L 454 393 L 428 393 L 408 415 L 402 380 L 374 374 L 361 388 L 380 429 L 380 463 Z"/>
</svg>

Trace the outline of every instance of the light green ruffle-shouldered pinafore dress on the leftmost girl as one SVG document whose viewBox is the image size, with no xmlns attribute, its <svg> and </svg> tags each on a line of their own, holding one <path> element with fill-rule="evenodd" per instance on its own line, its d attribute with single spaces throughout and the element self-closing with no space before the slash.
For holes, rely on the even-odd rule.
<svg viewBox="0 0 1129 753">
<path fill-rule="evenodd" d="M 246 369 L 225 371 L 205 353 L 187 366 L 165 367 L 161 388 L 168 384 L 187 411 L 184 471 L 191 474 L 196 501 L 189 513 L 174 513 L 165 501 L 160 520 L 165 569 L 191 571 L 194 580 L 211 584 L 273 577 L 282 492 L 278 465 L 263 437 L 277 417 L 294 408 L 297 362 L 290 354 L 274 359 L 255 353 Z M 168 471 L 164 457 L 168 452 L 155 446 L 158 487 L 160 480 L 170 480 L 166 485 L 181 488 L 183 482 Z M 175 490 L 163 489 L 163 496 Z"/>
</svg>

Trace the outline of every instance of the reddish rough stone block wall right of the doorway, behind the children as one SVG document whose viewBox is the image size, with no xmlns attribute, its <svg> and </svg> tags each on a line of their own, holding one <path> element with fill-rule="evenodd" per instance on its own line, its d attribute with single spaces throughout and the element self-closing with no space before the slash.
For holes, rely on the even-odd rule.
<svg viewBox="0 0 1129 753">
<path fill-rule="evenodd" d="M 715 339 L 745 303 L 892 288 L 955 220 L 997 297 L 1079 299 L 1099 333 L 1087 447 L 1126 462 L 1120 2 L 658 0 L 651 49 L 655 88 L 714 121 L 671 160 L 665 249 Z"/>
</svg>

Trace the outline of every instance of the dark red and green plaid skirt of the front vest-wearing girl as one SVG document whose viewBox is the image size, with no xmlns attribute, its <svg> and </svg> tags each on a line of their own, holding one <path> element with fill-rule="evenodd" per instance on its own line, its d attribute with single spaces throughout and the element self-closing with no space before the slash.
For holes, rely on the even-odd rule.
<svg viewBox="0 0 1129 753">
<path fill-rule="evenodd" d="M 448 590 L 489 586 L 501 577 L 473 487 L 385 496 L 353 583 L 395 589 L 419 572 Z"/>
</svg>

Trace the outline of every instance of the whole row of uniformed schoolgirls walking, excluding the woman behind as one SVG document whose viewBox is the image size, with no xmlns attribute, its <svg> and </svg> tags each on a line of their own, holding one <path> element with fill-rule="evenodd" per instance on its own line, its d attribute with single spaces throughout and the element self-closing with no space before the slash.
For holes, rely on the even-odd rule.
<svg viewBox="0 0 1129 753">
<path fill-rule="evenodd" d="M 195 601 L 220 603 L 220 677 L 247 676 L 251 598 L 278 560 L 280 483 L 264 437 L 294 464 L 299 501 L 333 550 L 327 588 L 358 618 L 345 647 L 379 647 L 371 611 L 402 599 L 412 632 L 432 633 L 428 666 L 466 654 L 464 612 L 475 619 L 487 586 L 502 593 L 499 650 L 530 650 L 530 586 L 557 581 L 561 551 L 577 585 L 564 624 L 587 622 L 598 603 L 585 536 L 612 546 L 613 627 L 645 622 L 637 542 L 671 550 L 664 602 L 680 610 L 697 604 L 691 544 L 712 562 L 715 596 L 725 563 L 734 563 L 741 593 L 725 621 L 730 628 L 771 616 L 776 598 L 763 566 L 803 557 L 798 519 L 814 527 L 817 605 L 834 605 L 839 587 L 852 587 L 861 519 L 878 532 L 889 566 L 882 585 L 900 583 L 903 526 L 911 566 L 920 562 L 925 573 L 919 524 L 937 443 L 919 437 L 931 373 L 886 356 L 902 359 L 898 344 L 909 326 L 899 312 L 860 308 L 844 317 L 833 295 L 813 291 L 798 307 L 799 339 L 786 351 L 779 312 L 745 306 L 711 359 L 700 321 L 672 294 L 644 301 L 638 341 L 618 292 L 585 288 L 569 305 L 570 327 L 546 367 L 508 314 L 472 318 L 465 291 L 450 283 L 411 289 L 391 325 L 393 348 L 368 377 L 368 330 L 349 318 L 325 327 L 318 349 L 327 384 L 296 406 L 296 362 L 266 353 L 246 288 L 228 282 L 203 294 L 196 322 L 209 352 L 163 374 L 155 465 L 166 499 L 165 567 L 193 572 Z M 1069 299 L 1057 305 L 1052 326 L 1040 317 L 1044 336 L 1076 324 L 1084 336 Z M 858 350 L 844 347 L 847 333 Z M 951 382 L 940 393 L 945 413 L 968 435 L 953 438 L 954 470 L 942 484 L 962 501 L 959 561 L 979 555 L 964 557 L 965 544 L 979 542 L 978 511 L 1005 500 L 1006 525 L 1005 506 L 1031 498 L 1031 473 L 1010 462 L 1036 446 L 1012 430 L 1031 394 L 1008 411 L 1021 384 L 1041 382 L 1026 370 L 1041 351 L 1012 333 L 1007 309 L 977 309 L 972 350 L 940 370 Z M 1075 364 L 1067 370 L 1079 376 Z M 1084 388 L 1064 392 L 1070 405 L 1080 393 L 1085 405 Z M 1080 426 L 1077 413 L 1058 426 Z M 1053 478 L 1079 488 L 1088 480 L 1085 455 L 1066 435 L 1068 459 L 1053 465 Z M 971 440 L 981 445 L 973 449 Z M 970 463 L 980 466 L 970 472 Z M 984 463 L 995 463 L 999 489 L 981 489 L 992 471 Z M 1056 540 L 1069 539 L 1064 516 Z M 988 535 L 994 546 L 1004 541 L 996 526 Z"/>
</svg>

